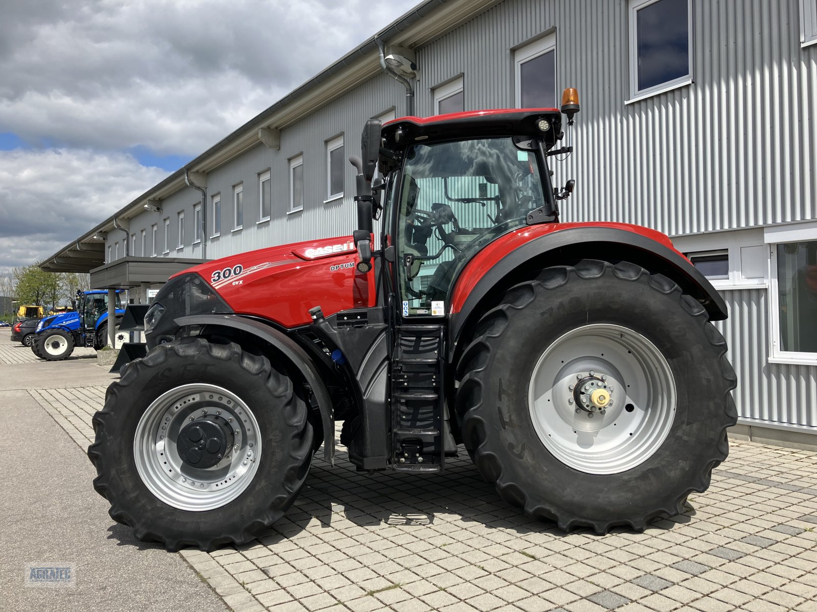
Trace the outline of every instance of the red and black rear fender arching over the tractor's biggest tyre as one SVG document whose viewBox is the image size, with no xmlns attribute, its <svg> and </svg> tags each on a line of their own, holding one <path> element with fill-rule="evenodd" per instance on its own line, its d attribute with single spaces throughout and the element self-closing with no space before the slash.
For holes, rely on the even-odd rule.
<svg viewBox="0 0 817 612">
<path fill-rule="evenodd" d="M 556 227 L 555 231 L 522 244 L 511 245 L 509 242 L 505 248 L 502 247 L 502 237 L 494 241 L 490 245 L 494 246 L 493 254 L 486 255 L 486 260 L 471 259 L 453 283 L 449 317 L 450 357 L 453 357 L 463 331 L 472 323 L 471 319 L 483 312 L 484 301 L 489 299 L 492 291 L 497 286 L 508 286 L 508 279 L 513 279 L 520 268 L 531 263 L 541 269 L 575 259 L 623 259 L 672 279 L 685 293 L 701 302 L 711 321 L 722 321 L 728 316 L 726 304 L 712 283 L 689 259 L 672 248 L 669 238 L 648 230 L 655 236 L 650 237 L 645 235 L 644 228 L 636 231 L 636 226 L 632 227 L 577 224 L 565 229 Z"/>
</svg>

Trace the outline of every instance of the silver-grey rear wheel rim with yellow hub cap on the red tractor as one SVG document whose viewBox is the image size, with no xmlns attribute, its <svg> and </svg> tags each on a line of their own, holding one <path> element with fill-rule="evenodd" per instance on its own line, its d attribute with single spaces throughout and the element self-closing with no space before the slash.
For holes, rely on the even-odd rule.
<svg viewBox="0 0 817 612">
<path fill-rule="evenodd" d="M 609 405 L 577 397 L 580 383 L 604 387 Z M 598 323 L 569 331 L 542 353 L 528 400 L 539 440 L 556 459 L 581 472 L 614 474 L 644 463 L 663 444 L 675 419 L 676 387 L 650 340 Z"/>
</svg>

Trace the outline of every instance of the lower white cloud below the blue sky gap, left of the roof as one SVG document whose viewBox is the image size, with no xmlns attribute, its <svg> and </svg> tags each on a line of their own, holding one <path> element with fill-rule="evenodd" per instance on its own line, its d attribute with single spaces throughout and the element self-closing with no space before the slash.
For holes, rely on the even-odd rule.
<svg viewBox="0 0 817 612">
<path fill-rule="evenodd" d="M 167 174 L 126 153 L 0 151 L 0 274 L 52 255 Z"/>
</svg>

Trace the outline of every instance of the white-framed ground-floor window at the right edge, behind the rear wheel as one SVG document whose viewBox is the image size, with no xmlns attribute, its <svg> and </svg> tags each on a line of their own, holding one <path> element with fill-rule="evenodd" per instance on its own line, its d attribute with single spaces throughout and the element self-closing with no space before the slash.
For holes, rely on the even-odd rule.
<svg viewBox="0 0 817 612">
<path fill-rule="evenodd" d="M 772 245 L 772 254 L 776 353 L 817 363 L 817 240 Z"/>
</svg>

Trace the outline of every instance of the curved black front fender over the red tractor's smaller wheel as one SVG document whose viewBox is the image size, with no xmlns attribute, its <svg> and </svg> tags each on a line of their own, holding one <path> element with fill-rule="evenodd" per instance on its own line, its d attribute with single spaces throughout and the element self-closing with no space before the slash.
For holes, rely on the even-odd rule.
<svg viewBox="0 0 817 612">
<path fill-rule="evenodd" d="M 267 344 L 272 345 L 287 357 L 312 388 L 315 400 L 318 401 L 321 421 L 324 425 L 324 460 L 335 463 L 335 418 L 333 415 L 332 398 L 320 379 L 318 369 L 306 351 L 293 339 L 274 327 L 246 317 L 234 314 L 194 314 L 188 317 L 179 317 L 175 320 L 180 327 L 192 325 L 212 325 L 230 327 L 234 330 L 246 331 L 257 336 Z"/>
</svg>

